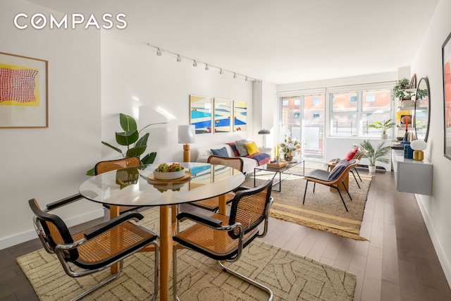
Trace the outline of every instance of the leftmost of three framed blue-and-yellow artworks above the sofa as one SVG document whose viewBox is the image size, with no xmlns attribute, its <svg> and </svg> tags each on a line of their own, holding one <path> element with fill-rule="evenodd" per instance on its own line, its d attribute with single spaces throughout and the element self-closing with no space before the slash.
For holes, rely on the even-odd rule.
<svg viewBox="0 0 451 301">
<path fill-rule="evenodd" d="M 213 99 L 211 97 L 190 95 L 190 124 L 196 134 L 213 133 Z"/>
</svg>

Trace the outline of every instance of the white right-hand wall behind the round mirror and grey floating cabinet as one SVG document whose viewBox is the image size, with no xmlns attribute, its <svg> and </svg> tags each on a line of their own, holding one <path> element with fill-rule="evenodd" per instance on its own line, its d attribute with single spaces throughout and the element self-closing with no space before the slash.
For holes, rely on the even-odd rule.
<svg viewBox="0 0 451 301">
<path fill-rule="evenodd" d="M 443 156 L 443 71 L 442 44 L 451 32 L 451 1 L 440 0 L 431 25 L 421 47 L 412 62 L 412 72 L 417 80 L 428 77 L 431 87 L 431 123 L 428 148 L 425 156 L 433 164 L 433 195 L 416 195 L 424 221 L 433 240 L 435 251 L 445 270 L 448 283 L 451 283 L 451 161 Z"/>
</svg>

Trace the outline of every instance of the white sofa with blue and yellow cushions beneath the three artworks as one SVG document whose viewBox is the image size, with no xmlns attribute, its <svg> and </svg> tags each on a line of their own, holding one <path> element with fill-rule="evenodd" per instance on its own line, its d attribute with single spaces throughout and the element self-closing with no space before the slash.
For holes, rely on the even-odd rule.
<svg viewBox="0 0 451 301">
<path fill-rule="evenodd" d="M 240 156 L 238 152 L 237 146 L 235 142 L 228 142 L 218 145 L 209 145 L 204 147 L 191 147 L 191 161 L 193 162 L 206 162 L 209 159 L 209 156 L 213 155 L 215 152 L 220 149 L 226 149 L 227 156 L 235 157 L 239 156 L 243 161 L 243 173 L 249 175 L 250 173 L 254 173 L 254 168 L 260 165 L 267 164 L 271 161 L 271 147 L 259 147 L 259 152 L 255 154 L 247 154 L 245 156 Z M 216 154 L 218 155 L 218 154 Z M 224 155 L 225 156 L 225 155 Z"/>
</svg>

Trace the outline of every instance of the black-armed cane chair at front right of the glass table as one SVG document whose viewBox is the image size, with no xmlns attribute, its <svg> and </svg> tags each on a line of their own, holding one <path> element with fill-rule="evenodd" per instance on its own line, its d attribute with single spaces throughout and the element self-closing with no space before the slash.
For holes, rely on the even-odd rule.
<svg viewBox="0 0 451 301">
<path fill-rule="evenodd" d="M 265 290 L 269 294 L 268 300 L 273 300 L 273 293 L 269 288 L 256 281 L 229 269 L 221 261 L 236 262 L 240 259 L 242 250 L 252 240 L 264 237 L 268 230 L 269 210 L 273 203 L 271 188 L 273 180 L 267 180 L 257 188 L 240 187 L 231 202 L 230 215 L 214 214 L 204 216 L 191 212 L 178 214 L 177 219 L 183 223 L 186 219 L 194 221 L 194 225 L 173 236 L 173 240 L 181 246 L 194 250 L 215 259 L 218 265 L 234 276 Z M 260 232 L 258 226 L 264 222 L 264 229 Z M 173 250 L 173 293 L 177 297 L 177 249 Z"/>
</svg>

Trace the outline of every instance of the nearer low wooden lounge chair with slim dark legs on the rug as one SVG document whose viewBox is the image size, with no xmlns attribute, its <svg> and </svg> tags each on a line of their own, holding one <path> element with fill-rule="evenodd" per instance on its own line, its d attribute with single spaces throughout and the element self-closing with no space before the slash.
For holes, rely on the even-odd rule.
<svg viewBox="0 0 451 301">
<path fill-rule="evenodd" d="M 302 201 L 302 204 L 305 203 L 305 195 L 307 195 L 307 186 L 309 185 L 309 182 L 313 182 L 313 192 L 315 193 L 315 187 L 316 183 L 329 186 L 331 188 L 335 188 L 338 191 L 338 194 L 340 195 L 341 201 L 343 205 L 345 205 L 345 209 L 347 210 L 345 199 L 343 199 L 339 185 L 341 184 L 346 192 L 347 195 L 352 200 L 352 197 L 350 195 L 350 192 L 347 190 L 347 187 L 345 183 L 343 183 L 343 180 L 349 175 L 349 172 L 352 168 L 357 166 L 359 164 L 360 160 L 352 159 L 351 161 L 347 162 L 346 160 L 340 161 L 337 165 L 335 165 L 335 168 L 333 168 L 332 171 L 325 171 L 323 169 L 314 169 L 313 171 L 310 171 L 307 173 L 307 175 L 304 176 L 304 180 L 307 180 L 307 183 L 305 184 L 305 190 L 304 190 L 304 199 Z"/>
</svg>

